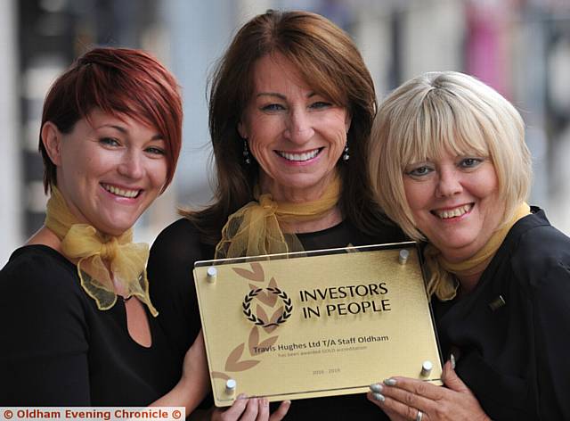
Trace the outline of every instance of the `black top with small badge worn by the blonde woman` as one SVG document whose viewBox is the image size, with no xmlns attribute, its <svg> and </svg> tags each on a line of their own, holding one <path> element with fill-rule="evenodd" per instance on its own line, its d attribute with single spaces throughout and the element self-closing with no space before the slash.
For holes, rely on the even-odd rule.
<svg viewBox="0 0 570 421">
<path fill-rule="evenodd" d="M 456 371 L 493 420 L 570 419 L 570 239 L 533 211 L 472 293 L 434 300 L 444 355 L 460 354 Z"/>
</svg>

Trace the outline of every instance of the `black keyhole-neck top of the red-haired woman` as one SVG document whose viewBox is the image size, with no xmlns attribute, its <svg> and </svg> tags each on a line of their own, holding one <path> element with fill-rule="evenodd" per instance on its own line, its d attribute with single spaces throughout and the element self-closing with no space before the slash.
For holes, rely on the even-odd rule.
<svg viewBox="0 0 570 421">
<path fill-rule="evenodd" d="M 98 310 L 77 267 L 45 245 L 12 253 L 0 271 L 1 406 L 144 406 L 179 377 L 147 311 L 152 345 L 135 343 L 122 300 Z"/>
</svg>

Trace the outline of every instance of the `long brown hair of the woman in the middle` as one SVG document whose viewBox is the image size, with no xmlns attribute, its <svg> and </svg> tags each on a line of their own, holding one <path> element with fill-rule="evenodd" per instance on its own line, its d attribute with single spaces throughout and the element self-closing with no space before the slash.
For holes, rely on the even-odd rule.
<svg viewBox="0 0 570 421">
<path fill-rule="evenodd" d="M 347 134 L 350 159 L 338 162 L 342 179 L 340 210 L 345 218 L 373 233 L 381 224 L 368 181 L 368 148 L 376 114 L 371 75 L 354 42 L 335 24 L 312 12 L 268 11 L 248 21 L 233 38 L 209 80 L 209 129 L 216 163 L 215 202 L 199 211 L 185 210 L 216 244 L 228 216 L 253 200 L 259 168 L 243 159 L 238 123 L 253 92 L 254 64 L 267 54 L 282 54 L 308 86 L 346 107 L 352 123 Z"/>
</svg>

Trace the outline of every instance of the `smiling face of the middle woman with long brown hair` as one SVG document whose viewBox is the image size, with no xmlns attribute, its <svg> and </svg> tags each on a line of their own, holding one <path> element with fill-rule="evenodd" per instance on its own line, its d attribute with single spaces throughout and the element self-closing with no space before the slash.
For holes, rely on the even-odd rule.
<svg viewBox="0 0 570 421">
<path fill-rule="evenodd" d="M 262 192 L 291 202 L 319 198 L 349 127 L 346 108 L 306 86 L 281 54 L 256 62 L 253 95 L 238 128 L 259 163 Z"/>
</svg>

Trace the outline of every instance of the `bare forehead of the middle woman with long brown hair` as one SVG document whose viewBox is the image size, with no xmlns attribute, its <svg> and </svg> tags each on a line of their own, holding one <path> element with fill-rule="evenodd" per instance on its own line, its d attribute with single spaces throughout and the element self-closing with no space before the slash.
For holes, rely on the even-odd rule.
<svg viewBox="0 0 570 421">
<path fill-rule="evenodd" d="M 268 54 L 257 60 L 253 67 L 253 88 L 254 95 L 312 90 L 297 67 L 282 54 Z"/>
</svg>

